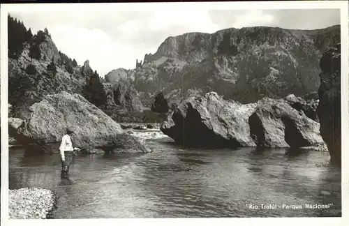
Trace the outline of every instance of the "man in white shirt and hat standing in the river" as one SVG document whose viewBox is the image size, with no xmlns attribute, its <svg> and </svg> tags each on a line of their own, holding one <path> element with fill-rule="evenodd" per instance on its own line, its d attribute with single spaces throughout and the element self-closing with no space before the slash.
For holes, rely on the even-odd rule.
<svg viewBox="0 0 349 226">
<path fill-rule="evenodd" d="M 67 177 L 69 172 L 70 164 L 73 161 L 75 150 L 80 150 L 75 147 L 70 135 L 72 135 L 75 131 L 75 128 L 69 127 L 66 131 L 66 135 L 62 137 L 61 146 L 59 146 L 59 151 L 61 153 L 61 177 Z"/>
</svg>

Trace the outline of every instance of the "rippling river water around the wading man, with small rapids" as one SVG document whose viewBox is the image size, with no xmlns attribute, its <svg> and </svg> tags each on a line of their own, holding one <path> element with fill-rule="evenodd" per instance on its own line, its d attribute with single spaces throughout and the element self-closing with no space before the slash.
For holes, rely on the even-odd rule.
<svg viewBox="0 0 349 226">
<path fill-rule="evenodd" d="M 60 177 L 59 155 L 24 157 L 23 149 L 10 149 L 10 189 L 54 190 L 53 218 L 341 215 L 341 170 L 329 165 L 328 153 L 184 150 L 159 130 L 133 132 L 154 152 L 75 156 L 69 179 Z M 306 206 L 315 204 L 329 208 Z"/>
</svg>

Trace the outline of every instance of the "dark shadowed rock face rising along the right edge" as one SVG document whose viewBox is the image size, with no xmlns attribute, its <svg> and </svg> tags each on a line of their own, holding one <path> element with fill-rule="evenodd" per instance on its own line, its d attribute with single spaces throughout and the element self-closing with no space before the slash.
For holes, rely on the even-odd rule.
<svg viewBox="0 0 349 226">
<path fill-rule="evenodd" d="M 318 116 L 320 131 L 333 163 L 341 165 L 341 44 L 325 52 L 320 61 L 322 72 Z"/>
</svg>

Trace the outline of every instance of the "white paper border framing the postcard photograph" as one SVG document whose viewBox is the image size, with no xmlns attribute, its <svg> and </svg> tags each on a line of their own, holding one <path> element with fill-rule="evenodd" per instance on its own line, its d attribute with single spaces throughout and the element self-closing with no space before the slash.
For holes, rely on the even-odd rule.
<svg viewBox="0 0 349 226">
<path fill-rule="evenodd" d="M 77 10 L 94 5 L 96 10 L 110 7 L 115 3 L 47 3 L 47 4 L 6 4 L 1 5 L 1 224 L 3 225 L 99 225 L 99 224 L 151 224 L 151 225 L 346 225 L 349 211 L 349 174 L 348 146 L 348 1 L 254 1 L 254 2 L 199 2 L 199 3 L 117 3 L 116 10 L 181 10 L 183 8 L 195 8 L 200 10 L 247 10 L 247 9 L 312 9 L 312 8 L 341 8 L 341 90 L 342 90 L 342 218 L 161 218 L 161 219 L 82 219 L 82 220 L 8 220 L 8 59 L 7 59 L 7 15 L 19 5 L 32 8 L 52 8 L 64 10 L 77 8 Z M 25 9 L 25 8 L 24 8 Z M 73 210 L 72 210 L 73 211 Z"/>
</svg>

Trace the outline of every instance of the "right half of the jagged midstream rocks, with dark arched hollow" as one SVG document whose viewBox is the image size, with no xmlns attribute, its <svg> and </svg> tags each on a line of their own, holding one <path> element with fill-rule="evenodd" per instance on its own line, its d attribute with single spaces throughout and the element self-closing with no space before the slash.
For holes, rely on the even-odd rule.
<svg viewBox="0 0 349 226">
<path fill-rule="evenodd" d="M 323 143 L 320 124 L 285 99 L 262 98 L 248 121 L 257 146 L 299 147 Z"/>
</svg>

